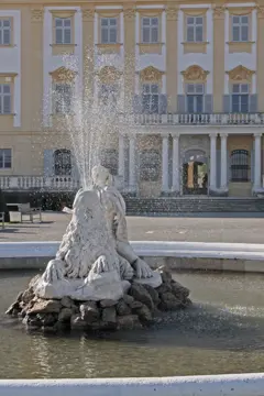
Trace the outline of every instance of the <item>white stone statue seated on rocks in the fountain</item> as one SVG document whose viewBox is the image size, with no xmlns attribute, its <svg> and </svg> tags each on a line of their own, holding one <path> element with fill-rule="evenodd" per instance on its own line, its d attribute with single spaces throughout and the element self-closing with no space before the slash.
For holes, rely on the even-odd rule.
<svg viewBox="0 0 264 396">
<path fill-rule="evenodd" d="M 129 244 L 125 205 L 111 183 L 108 185 L 108 169 L 95 167 L 92 179 L 94 189 L 77 193 L 56 257 L 34 285 L 35 294 L 42 298 L 117 300 L 132 278 L 153 287 L 162 284 L 161 275 Z"/>
</svg>

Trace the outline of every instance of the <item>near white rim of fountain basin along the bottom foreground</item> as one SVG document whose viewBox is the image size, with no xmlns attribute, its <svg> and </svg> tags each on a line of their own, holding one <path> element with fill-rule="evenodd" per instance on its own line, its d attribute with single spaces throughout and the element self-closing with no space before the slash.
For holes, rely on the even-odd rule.
<svg viewBox="0 0 264 396">
<path fill-rule="evenodd" d="M 0 381 L 2 396 L 261 396 L 264 374 L 230 374 L 157 378 L 11 380 Z"/>
</svg>

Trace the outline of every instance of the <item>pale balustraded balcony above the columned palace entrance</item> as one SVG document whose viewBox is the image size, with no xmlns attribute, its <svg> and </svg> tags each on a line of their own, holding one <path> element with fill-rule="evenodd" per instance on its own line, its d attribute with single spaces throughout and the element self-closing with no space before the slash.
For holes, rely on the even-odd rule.
<svg viewBox="0 0 264 396">
<path fill-rule="evenodd" d="M 183 114 L 133 114 L 121 116 L 122 122 L 129 125 L 215 125 L 215 127 L 261 127 L 264 125 L 264 113 L 183 113 Z"/>
</svg>

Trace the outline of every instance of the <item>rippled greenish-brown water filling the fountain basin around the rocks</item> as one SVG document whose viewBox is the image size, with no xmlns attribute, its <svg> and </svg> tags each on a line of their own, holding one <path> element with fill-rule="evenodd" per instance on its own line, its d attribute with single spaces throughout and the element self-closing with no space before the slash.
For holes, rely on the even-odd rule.
<svg viewBox="0 0 264 396">
<path fill-rule="evenodd" d="M 32 274 L 3 273 L 3 312 Z M 264 371 L 262 275 L 177 274 L 191 309 L 150 330 L 97 337 L 29 334 L 0 318 L 0 377 L 122 377 Z"/>
</svg>

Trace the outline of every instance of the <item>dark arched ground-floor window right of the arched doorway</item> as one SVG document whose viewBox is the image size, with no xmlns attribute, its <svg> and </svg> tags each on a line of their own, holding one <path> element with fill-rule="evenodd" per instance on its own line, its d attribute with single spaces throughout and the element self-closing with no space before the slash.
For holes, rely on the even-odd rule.
<svg viewBox="0 0 264 396">
<path fill-rule="evenodd" d="M 231 182 L 250 180 L 250 154 L 248 150 L 233 150 L 231 153 Z"/>
</svg>

